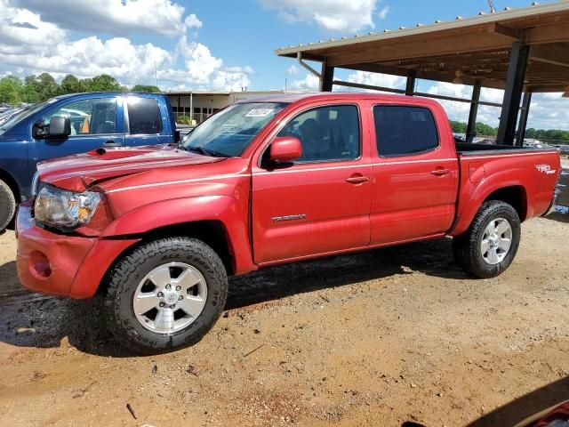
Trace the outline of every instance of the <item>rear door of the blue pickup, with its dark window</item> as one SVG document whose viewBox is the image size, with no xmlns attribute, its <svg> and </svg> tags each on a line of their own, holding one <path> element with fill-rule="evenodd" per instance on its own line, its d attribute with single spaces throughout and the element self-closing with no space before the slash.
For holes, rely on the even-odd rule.
<svg viewBox="0 0 569 427">
<path fill-rule="evenodd" d="M 170 115 L 156 96 L 137 94 L 124 97 L 126 135 L 124 145 L 155 145 L 174 142 Z"/>
</svg>

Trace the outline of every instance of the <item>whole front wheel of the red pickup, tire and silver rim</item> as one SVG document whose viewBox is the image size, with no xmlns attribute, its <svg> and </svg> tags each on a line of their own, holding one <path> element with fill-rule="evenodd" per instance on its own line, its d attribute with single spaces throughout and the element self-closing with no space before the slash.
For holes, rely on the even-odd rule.
<svg viewBox="0 0 569 427">
<path fill-rule="evenodd" d="M 140 354 L 199 342 L 220 318 L 228 277 L 220 257 L 196 238 L 160 238 L 124 255 L 108 274 L 108 329 Z"/>
</svg>

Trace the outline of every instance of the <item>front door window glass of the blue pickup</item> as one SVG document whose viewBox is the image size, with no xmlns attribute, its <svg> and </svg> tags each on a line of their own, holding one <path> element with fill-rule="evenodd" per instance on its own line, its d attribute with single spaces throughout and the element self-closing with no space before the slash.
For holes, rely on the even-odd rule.
<svg viewBox="0 0 569 427">
<path fill-rule="evenodd" d="M 116 133 L 116 99 L 99 98 L 73 101 L 44 117 L 47 125 L 52 117 L 69 117 L 71 135 Z"/>
</svg>

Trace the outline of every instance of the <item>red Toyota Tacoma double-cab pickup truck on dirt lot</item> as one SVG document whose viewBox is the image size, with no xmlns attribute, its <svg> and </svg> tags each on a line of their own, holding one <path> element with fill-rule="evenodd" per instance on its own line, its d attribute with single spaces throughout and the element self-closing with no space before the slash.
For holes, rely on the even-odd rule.
<svg viewBox="0 0 569 427">
<path fill-rule="evenodd" d="M 20 205 L 18 273 L 34 291 L 104 295 L 132 350 L 195 343 L 228 276 L 453 237 L 493 278 L 520 222 L 554 206 L 555 149 L 458 144 L 435 101 L 362 93 L 244 101 L 179 146 L 96 149 L 39 165 Z"/>
</svg>

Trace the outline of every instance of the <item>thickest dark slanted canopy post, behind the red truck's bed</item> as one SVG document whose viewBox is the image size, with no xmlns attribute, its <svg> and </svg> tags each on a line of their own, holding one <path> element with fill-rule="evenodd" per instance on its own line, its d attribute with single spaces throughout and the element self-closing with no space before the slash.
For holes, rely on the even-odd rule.
<svg viewBox="0 0 569 427">
<path fill-rule="evenodd" d="M 529 46 L 521 41 L 512 44 L 509 53 L 508 75 L 504 101 L 501 107 L 500 126 L 498 127 L 498 143 L 514 145 L 516 137 L 517 111 L 524 89 L 525 68 L 529 56 Z"/>
</svg>

